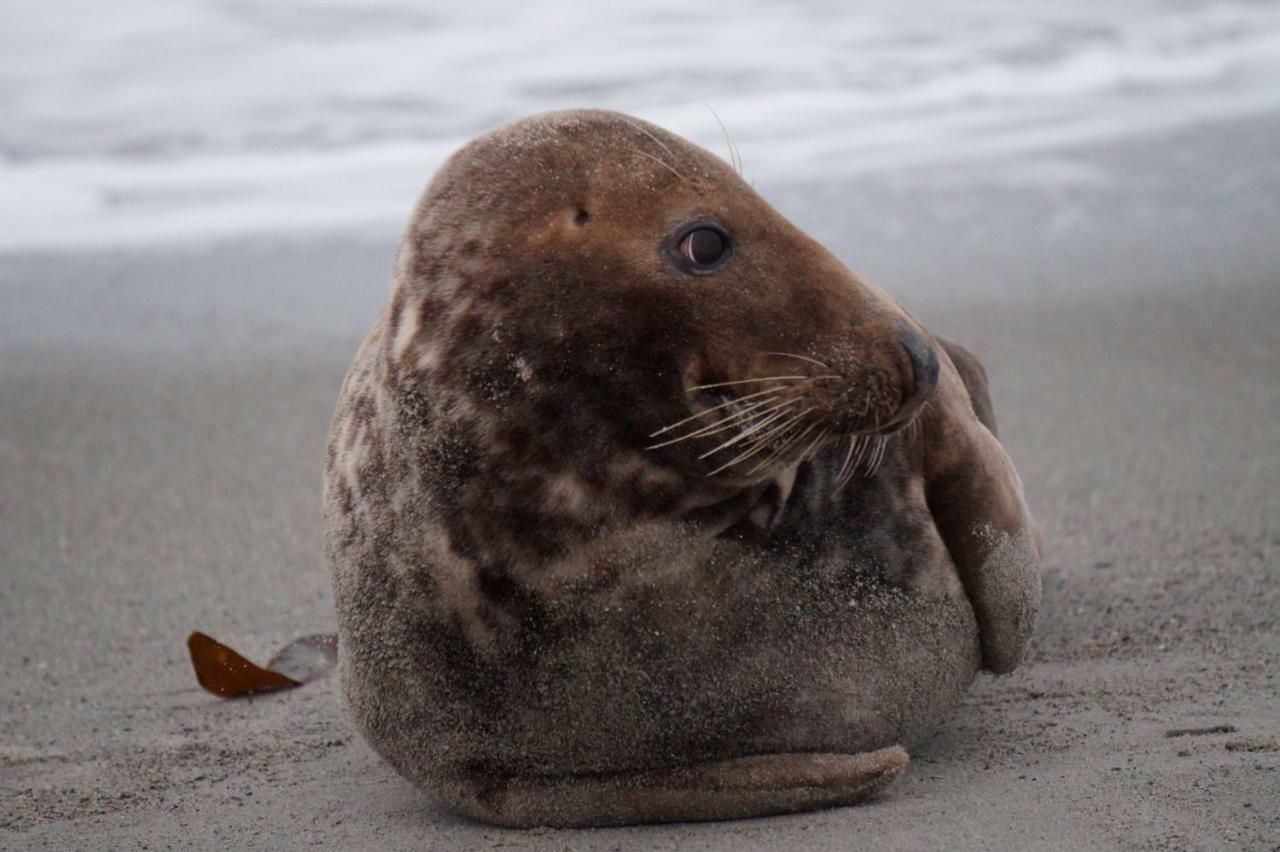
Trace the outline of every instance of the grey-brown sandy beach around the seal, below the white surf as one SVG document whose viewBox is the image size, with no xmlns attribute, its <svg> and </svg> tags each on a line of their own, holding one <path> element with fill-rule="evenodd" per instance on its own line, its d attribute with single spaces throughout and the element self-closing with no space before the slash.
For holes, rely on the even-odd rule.
<svg viewBox="0 0 1280 852">
<path fill-rule="evenodd" d="M 323 438 L 394 235 L 0 261 L 0 847 L 1276 848 L 1276 150 L 1271 116 L 765 188 L 982 354 L 1050 546 L 1029 664 L 895 788 L 728 824 L 477 826 L 333 679 L 196 687 L 191 629 L 265 659 L 333 628 Z"/>
</svg>

